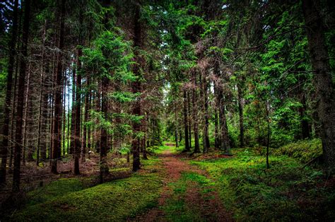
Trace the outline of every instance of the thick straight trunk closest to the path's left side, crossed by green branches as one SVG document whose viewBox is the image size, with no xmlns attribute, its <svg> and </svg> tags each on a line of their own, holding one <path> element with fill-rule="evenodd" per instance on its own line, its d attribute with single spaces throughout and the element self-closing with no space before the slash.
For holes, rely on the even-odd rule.
<svg viewBox="0 0 335 222">
<path fill-rule="evenodd" d="M 135 4 L 135 16 L 134 16 L 134 48 L 135 48 L 135 59 L 136 59 L 136 64 L 134 64 L 134 74 L 135 76 L 140 76 L 140 64 L 141 64 L 141 59 L 139 55 L 139 48 L 141 48 L 141 22 L 139 21 L 141 18 L 140 11 L 141 11 L 141 6 L 140 2 L 136 1 Z M 132 91 L 133 93 L 141 93 L 141 82 L 136 79 L 136 81 L 133 82 L 132 84 Z M 133 115 L 140 116 L 141 115 L 141 99 L 138 98 L 134 102 L 134 107 L 132 111 Z M 139 156 L 139 148 L 140 148 L 140 139 L 137 138 L 136 134 L 138 134 L 141 130 L 141 123 L 139 122 L 134 122 L 133 123 L 133 139 L 131 141 L 131 149 L 133 152 L 133 171 L 139 170 L 141 167 L 141 162 L 140 162 L 140 156 Z"/>
</svg>

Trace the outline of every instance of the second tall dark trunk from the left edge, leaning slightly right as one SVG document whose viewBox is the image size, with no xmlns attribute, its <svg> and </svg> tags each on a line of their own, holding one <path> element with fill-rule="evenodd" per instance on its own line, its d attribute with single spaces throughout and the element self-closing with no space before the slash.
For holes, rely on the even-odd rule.
<svg viewBox="0 0 335 222">
<path fill-rule="evenodd" d="M 25 16 L 23 23 L 22 35 L 22 57 L 20 61 L 20 76 L 18 76 L 18 88 L 22 89 L 25 86 L 25 69 L 27 67 L 27 47 L 30 25 L 30 0 L 25 1 Z M 18 101 L 23 101 L 24 91 L 18 90 Z M 18 103 L 16 106 L 16 136 L 14 147 L 14 172 L 13 172 L 13 192 L 20 190 L 20 163 L 21 163 L 21 146 L 22 146 L 22 120 L 23 120 L 23 103 Z"/>
</svg>

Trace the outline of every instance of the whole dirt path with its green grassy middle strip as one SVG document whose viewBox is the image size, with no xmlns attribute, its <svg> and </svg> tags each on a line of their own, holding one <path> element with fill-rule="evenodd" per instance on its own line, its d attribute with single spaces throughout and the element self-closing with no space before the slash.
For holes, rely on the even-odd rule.
<svg viewBox="0 0 335 222">
<path fill-rule="evenodd" d="M 181 160 L 175 144 L 165 146 L 171 148 L 159 155 L 165 173 L 158 206 L 131 221 L 232 221 L 206 171 Z"/>
</svg>

